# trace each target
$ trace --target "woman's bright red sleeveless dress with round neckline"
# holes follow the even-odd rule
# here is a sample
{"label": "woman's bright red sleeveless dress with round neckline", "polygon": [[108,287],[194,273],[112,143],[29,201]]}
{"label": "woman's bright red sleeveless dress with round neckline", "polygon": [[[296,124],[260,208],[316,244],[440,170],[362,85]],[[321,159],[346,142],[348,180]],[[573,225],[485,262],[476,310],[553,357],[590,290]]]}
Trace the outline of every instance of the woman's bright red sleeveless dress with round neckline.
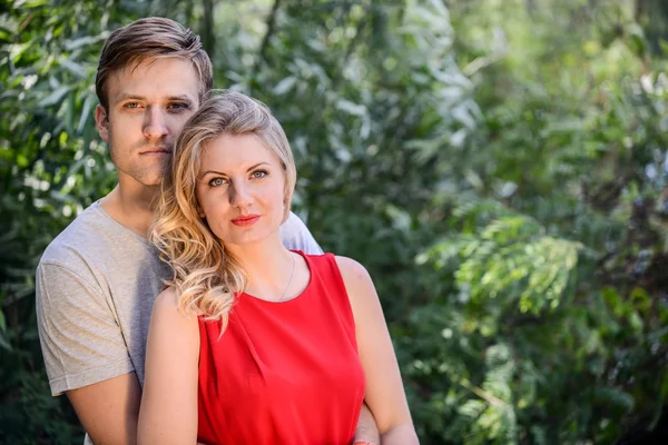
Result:
{"label": "woman's bright red sleeveless dress with round neckline", "polygon": [[242,293],[220,337],[199,318],[197,441],[207,445],[344,445],[353,441],[364,372],[332,254],[304,257],[311,281],[271,303]]}

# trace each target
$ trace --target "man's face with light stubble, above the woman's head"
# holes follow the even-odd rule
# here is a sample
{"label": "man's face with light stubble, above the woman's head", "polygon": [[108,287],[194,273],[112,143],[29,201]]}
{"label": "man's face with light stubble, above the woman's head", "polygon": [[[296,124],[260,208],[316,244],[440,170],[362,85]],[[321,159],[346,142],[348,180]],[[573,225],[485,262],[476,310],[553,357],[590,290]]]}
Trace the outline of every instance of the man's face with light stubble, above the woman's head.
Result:
{"label": "man's face with light stubble, above the woman's head", "polygon": [[176,138],[199,107],[199,79],[190,61],[149,59],[109,76],[108,110],[96,109],[118,180],[155,186],[171,161]]}

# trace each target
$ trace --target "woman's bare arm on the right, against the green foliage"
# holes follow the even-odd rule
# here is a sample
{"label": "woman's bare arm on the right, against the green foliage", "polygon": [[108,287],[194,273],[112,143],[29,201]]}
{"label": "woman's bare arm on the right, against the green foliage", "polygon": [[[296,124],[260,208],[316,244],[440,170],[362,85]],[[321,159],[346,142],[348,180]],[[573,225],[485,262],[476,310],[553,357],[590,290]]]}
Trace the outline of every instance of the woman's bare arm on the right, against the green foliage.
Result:
{"label": "woman's bare arm on the right, against the green foliage", "polygon": [[357,350],[366,377],[364,402],[383,445],[418,444],[387,324],[373,281],[358,263],[336,257],[353,308]]}

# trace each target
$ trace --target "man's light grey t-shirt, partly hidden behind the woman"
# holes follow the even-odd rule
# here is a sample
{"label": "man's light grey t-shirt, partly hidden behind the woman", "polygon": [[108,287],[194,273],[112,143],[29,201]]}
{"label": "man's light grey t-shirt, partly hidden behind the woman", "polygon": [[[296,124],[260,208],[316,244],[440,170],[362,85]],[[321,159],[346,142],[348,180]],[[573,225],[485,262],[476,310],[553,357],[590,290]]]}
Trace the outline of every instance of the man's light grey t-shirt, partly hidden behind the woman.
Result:
{"label": "man's light grey t-shirt, partly hidden behind the woman", "polygon": [[[281,227],[286,247],[321,254],[294,214]],[[51,393],[135,372],[144,385],[155,297],[169,267],[144,237],[95,202],[45,251],[37,267],[37,322]]]}

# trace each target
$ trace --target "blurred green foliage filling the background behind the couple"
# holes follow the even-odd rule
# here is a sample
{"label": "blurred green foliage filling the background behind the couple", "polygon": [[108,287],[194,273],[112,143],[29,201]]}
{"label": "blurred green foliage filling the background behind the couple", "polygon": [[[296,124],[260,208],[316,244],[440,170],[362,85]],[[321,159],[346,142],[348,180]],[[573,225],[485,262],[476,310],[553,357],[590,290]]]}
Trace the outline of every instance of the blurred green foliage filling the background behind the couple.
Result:
{"label": "blurred green foliage filling the background behind the couple", "polygon": [[109,31],[197,30],[266,102],[295,207],[374,276],[423,444],[639,437],[668,400],[668,6],[660,0],[10,0],[0,7],[0,443],[80,443],[33,270],[108,192]]}

